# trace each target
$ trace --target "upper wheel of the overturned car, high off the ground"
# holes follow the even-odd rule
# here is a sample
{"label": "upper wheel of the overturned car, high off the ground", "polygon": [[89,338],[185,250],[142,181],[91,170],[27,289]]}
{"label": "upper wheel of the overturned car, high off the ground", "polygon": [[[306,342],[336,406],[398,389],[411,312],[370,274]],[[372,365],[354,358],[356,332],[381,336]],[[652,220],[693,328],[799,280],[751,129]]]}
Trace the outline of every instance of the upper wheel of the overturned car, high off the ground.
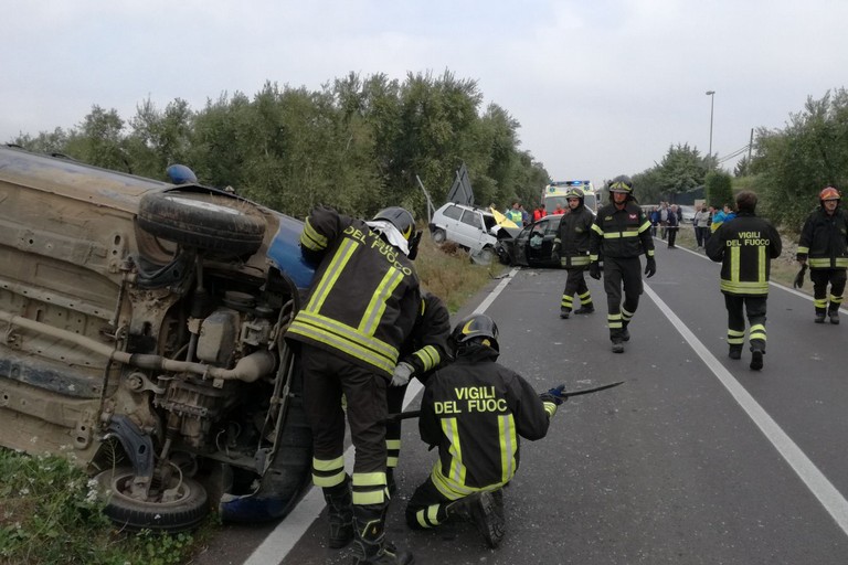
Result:
{"label": "upper wheel of the overturned car, high off the ground", "polygon": [[138,207],[138,225],[187,247],[251,255],[265,236],[265,220],[246,202],[208,193],[153,192]]}

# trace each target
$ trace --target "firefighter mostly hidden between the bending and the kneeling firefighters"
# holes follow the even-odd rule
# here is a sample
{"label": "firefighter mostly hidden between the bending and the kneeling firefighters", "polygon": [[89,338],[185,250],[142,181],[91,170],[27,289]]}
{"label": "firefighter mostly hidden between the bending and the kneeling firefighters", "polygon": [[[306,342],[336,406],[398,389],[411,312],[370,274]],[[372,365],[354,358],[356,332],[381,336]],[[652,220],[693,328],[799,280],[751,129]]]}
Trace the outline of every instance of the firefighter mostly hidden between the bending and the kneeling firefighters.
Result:
{"label": "firefighter mostly hidden between the bending and the kneeling firefighters", "polygon": [[[434,369],[449,358],[447,340],[451,337],[451,313],[436,295],[422,291],[421,308],[412,334],[401,347],[401,362],[394,367],[391,385],[386,391],[389,414],[400,414],[403,397],[411,377],[426,384]],[[401,455],[401,422],[390,420],[385,425],[385,479],[389,493],[396,490],[394,470]]]}

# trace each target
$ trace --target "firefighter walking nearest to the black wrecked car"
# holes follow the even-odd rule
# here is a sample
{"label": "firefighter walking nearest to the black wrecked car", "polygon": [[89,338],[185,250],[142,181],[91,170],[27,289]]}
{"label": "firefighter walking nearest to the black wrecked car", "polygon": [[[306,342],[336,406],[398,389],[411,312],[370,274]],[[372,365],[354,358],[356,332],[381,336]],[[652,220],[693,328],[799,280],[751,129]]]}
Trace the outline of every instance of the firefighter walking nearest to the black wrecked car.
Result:
{"label": "firefighter walking nearest to the black wrecked car", "polygon": [[595,216],[584,205],[584,195],[583,190],[576,188],[565,193],[571,212],[560,220],[560,230],[553,239],[553,253],[559,255],[560,264],[569,274],[560,300],[560,318],[563,319],[571,316],[574,296],[580,298],[580,308],[574,310],[575,315],[595,311],[592,294],[583,275],[589,267],[589,241]]}

